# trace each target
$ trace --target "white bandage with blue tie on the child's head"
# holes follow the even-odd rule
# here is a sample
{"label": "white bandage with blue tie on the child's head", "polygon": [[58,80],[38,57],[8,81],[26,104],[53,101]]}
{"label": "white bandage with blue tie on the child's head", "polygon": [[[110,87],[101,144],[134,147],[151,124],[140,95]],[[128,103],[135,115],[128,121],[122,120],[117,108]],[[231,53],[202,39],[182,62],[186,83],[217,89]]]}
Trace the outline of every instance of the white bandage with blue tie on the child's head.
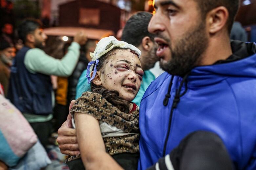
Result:
{"label": "white bandage with blue tie on the child's head", "polygon": [[[97,43],[94,53],[90,53],[90,56],[92,57],[92,61],[89,62],[88,66],[87,66],[87,74],[86,74],[86,77],[88,78],[88,83],[90,83],[96,75],[96,71],[97,71],[96,66],[99,62],[98,59],[101,56],[103,56],[104,54],[106,54],[107,52],[109,52],[110,50],[112,50],[114,47],[123,48],[123,49],[128,48],[128,49],[135,51],[135,53],[138,54],[138,56],[141,55],[140,50],[132,44],[128,44],[127,42],[123,42],[123,41],[118,41],[113,36],[102,38]],[[95,64],[95,66],[94,66],[94,64]],[[93,67],[94,67],[94,70],[93,70]],[[91,77],[90,75],[91,75],[92,71],[94,71],[94,73]]]}

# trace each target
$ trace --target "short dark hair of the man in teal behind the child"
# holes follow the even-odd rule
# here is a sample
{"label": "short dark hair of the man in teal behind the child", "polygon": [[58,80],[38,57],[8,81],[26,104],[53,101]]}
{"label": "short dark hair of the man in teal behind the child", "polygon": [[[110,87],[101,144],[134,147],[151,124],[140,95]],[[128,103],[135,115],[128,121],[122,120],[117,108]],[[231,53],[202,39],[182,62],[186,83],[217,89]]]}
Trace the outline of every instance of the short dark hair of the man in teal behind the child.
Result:
{"label": "short dark hair of the man in teal behind the child", "polygon": [[154,41],[155,35],[148,32],[148,23],[152,16],[151,13],[144,11],[131,16],[124,26],[121,40],[134,46],[138,46],[146,36]]}

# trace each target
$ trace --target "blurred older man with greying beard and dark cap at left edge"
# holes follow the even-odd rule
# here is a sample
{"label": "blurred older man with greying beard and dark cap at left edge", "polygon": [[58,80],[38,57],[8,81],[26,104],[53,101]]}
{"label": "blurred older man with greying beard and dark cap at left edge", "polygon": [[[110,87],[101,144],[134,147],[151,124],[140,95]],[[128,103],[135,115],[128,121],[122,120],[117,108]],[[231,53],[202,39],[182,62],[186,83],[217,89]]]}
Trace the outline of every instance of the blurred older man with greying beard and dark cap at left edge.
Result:
{"label": "blurred older man with greying beard and dark cap at left edge", "polygon": [[12,60],[15,56],[15,48],[12,43],[0,39],[0,82],[3,85],[5,96],[7,96]]}

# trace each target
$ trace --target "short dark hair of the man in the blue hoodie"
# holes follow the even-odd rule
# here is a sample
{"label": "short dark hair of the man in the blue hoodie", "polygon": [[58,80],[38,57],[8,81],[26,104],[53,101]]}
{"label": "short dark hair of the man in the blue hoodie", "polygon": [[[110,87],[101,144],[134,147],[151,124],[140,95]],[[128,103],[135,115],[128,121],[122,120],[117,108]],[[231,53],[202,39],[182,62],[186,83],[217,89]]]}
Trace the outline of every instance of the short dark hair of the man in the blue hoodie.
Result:
{"label": "short dark hair of the man in the blue hoodie", "polygon": [[224,6],[229,13],[229,16],[227,19],[227,29],[228,29],[228,32],[230,33],[235,16],[239,9],[240,0],[194,0],[194,1],[198,3],[198,8],[200,9],[203,17],[206,17],[206,14],[210,10],[220,6]]}

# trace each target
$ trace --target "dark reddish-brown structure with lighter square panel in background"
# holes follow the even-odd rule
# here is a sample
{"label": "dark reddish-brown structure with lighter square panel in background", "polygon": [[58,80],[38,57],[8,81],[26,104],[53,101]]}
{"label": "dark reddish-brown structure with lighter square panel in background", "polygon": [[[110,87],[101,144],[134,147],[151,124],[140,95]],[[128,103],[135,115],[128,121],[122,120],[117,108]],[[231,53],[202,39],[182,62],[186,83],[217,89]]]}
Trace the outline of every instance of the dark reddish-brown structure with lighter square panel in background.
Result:
{"label": "dark reddish-brown structure with lighter square panel in background", "polygon": [[59,6],[59,26],[97,29],[120,29],[123,11],[116,6],[96,0],[76,0]]}

